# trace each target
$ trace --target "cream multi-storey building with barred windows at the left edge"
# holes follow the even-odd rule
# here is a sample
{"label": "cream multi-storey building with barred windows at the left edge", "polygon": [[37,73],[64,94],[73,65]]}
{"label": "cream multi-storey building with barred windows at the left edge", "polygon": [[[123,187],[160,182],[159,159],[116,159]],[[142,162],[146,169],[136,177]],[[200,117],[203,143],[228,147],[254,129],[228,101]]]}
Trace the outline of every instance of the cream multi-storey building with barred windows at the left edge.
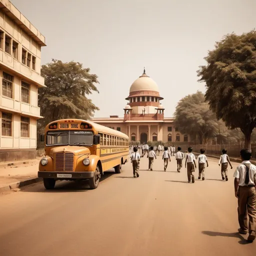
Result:
{"label": "cream multi-storey building with barred windows at the left edge", "polygon": [[41,118],[37,91],[44,36],[9,0],[0,0],[0,160],[32,158],[36,120]]}

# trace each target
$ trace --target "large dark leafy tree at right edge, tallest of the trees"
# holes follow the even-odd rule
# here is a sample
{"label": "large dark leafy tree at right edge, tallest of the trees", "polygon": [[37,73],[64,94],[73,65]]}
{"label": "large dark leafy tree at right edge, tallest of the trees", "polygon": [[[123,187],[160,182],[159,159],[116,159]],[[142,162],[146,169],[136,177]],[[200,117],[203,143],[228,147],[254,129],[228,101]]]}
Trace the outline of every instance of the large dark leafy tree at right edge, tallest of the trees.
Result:
{"label": "large dark leafy tree at right edge, tallest of the trees", "polygon": [[244,134],[250,147],[256,125],[256,31],[225,35],[204,58],[197,75],[206,86],[208,100],[218,119]]}

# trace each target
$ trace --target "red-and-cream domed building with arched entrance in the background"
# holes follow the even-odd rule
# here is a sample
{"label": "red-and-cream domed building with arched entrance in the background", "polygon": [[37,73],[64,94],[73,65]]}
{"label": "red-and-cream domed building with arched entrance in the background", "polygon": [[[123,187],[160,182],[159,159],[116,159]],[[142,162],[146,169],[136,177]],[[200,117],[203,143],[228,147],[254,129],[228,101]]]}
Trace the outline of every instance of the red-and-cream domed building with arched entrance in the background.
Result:
{"label": "red-and-cream domed building with arched entrance in the background", "polygon": [[172,117],[164,117],[163,99],[155,81],[150,78],[145,69],[130,86],[128,100],[124,107],[124,116],[110,115],[107,118],[92,118],[93,122],[120,130],[126,133],[130,140],[141,143],[162,140],[173,144],[188,142],[189,135],[181,134],[175,127]]}

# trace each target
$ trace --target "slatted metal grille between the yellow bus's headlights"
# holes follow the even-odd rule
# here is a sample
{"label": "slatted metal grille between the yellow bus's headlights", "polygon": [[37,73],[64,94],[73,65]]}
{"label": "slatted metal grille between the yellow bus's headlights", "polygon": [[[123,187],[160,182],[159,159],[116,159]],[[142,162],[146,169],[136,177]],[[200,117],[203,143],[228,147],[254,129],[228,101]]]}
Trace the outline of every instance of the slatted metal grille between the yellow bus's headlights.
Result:
{"label": "slatted metal grille between the yellow bus's headlights", "polygon": [[54,157],[54,169],[56,171],[73,171],[74,154],[56,153]]}

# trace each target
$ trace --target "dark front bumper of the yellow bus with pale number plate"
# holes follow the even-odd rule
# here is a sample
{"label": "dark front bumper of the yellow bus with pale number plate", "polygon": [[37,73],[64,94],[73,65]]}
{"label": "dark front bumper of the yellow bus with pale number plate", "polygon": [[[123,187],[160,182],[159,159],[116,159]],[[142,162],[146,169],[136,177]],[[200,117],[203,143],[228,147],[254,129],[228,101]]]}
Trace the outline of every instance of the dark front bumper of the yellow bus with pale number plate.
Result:
{"label": "dark front bumper of the yellow bus with pale number plate", "polygon": [[86,179],[94,177],[94,171],[38,171],[39,178]]}

